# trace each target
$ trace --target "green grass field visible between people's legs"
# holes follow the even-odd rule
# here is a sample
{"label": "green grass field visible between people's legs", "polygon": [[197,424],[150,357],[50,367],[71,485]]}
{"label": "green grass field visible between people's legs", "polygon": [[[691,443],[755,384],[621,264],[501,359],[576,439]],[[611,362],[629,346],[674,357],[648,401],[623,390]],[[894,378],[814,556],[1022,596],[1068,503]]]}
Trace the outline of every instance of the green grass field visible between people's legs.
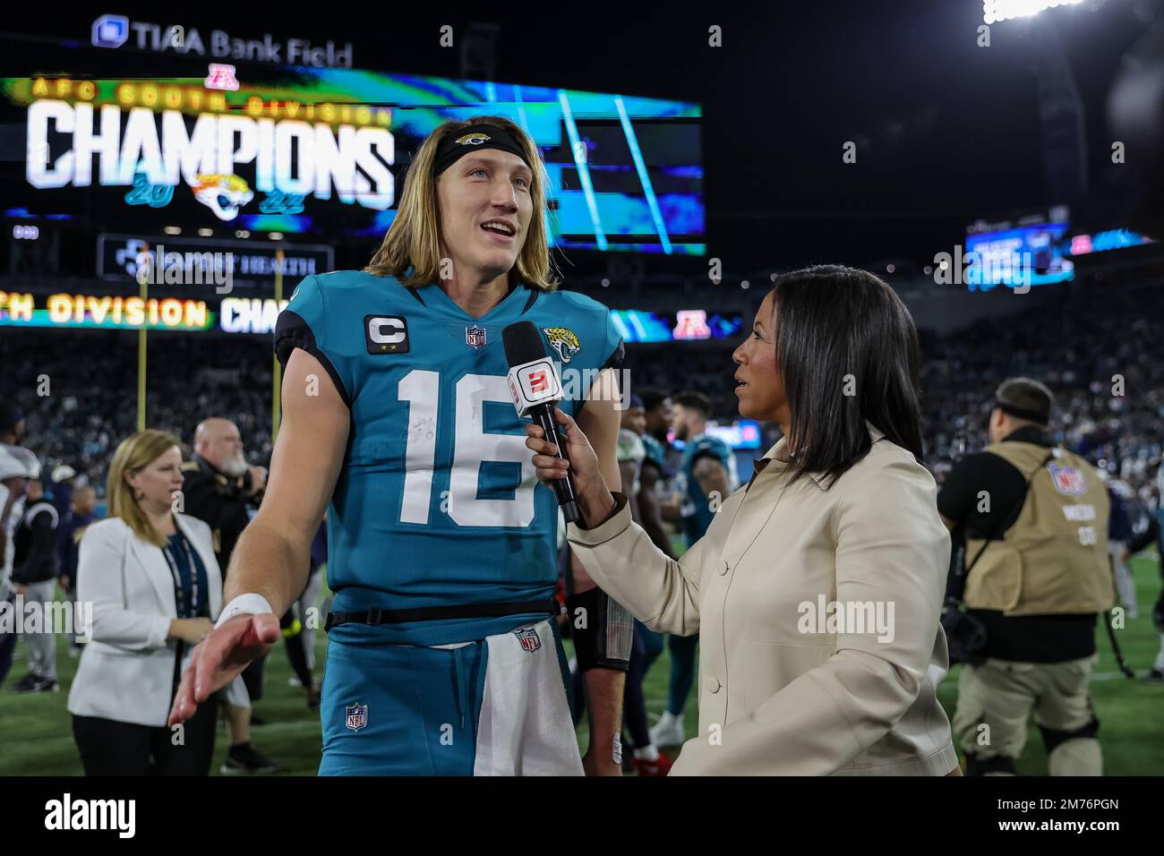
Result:
{"label": "green grass field visible between people's legs", "polygon": [[[1133,561],[1133,572],[1140,594],[1140,615],[1117,631],[1124,658],[1137,675],[1147,671],[1159,650],[1161,636],[1152,627],[1151,606],[1159,593],[1161,578],[1155,556],[1143,554]],[[1164,686],[1145,685],[1119,674],[1107,635],[1096,631],[1100,651],[1092,693],[1101,721],[1100,738],[1103,745],[1105,770],[1108,776],[1164,774]],[[68,642],[58,639],[57,670],[59,693],[16,695],[12,685],[27,672],[23,648],[17,644],[17,659],[0,688],[0,774],[2,776],[74,776],[80,774],[80,762],[73,743],[70,715],[65,709],[69,686],[78,660],[68,655]],[[326,658],[326,638],[317,634],[317,663]],[[667,701],[669,662],[666,649],[652,667],[646,681],[647,710],[653,722]],[[317,672],[318,672],[317,667]],[[319,765],[319,720],[310,712],[303,691],[288,686],[291,667],[282,648],[277,648],[267,667],[267,689],[255,706],[256,715],[268,724],[253,729],[254,744],[267,755],[282,761],[284,773],[308,776]],[[958,696],[958,670],[951,670],[939,687],[938,696],[952,716]],[[684,715],[688,736],[695,736],[698,724],[695,692],[688,700]],[[585,726],[579,729],[579,740],[585,748]],[[215,748],[214,774],[226,756],[226,733],[219,726]],[[1046,772],[1046,756],[1038,729],[1030,727],[1027,750],[1018,762],[1020,773],[1039,776]]]}

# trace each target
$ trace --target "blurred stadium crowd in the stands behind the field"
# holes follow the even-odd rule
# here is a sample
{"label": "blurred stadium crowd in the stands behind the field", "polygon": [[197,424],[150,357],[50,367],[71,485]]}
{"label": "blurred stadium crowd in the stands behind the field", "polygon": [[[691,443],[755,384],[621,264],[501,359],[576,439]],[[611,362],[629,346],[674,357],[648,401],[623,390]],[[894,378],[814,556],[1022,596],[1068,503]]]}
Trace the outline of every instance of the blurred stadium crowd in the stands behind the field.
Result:
{"label": "blurred stadium crowd in the stands behind the field", "polygon": [[[927,466],[941,479],[954,460],[986,446],[995,384],[1024,375],[1058,397],[1056,439],[1150,504],[1164,444],[1164,344],[1144,311],[1156,288],[1077,289],[1070,300],[1064,295],[952,333],[922,331]],[[734,345],[633,344],[625,362],[631,391],[700,391],[711,399],[712,420],[730,424],[737,418]],[[0,362],[7,367],[0,398],[23,410],[26,445],[50,471],[68,464],[85,476],[79,483],[104,496],[108,458],[136,426],[136,333],[21,331],[0,337]],[[265,337],[151,334],[147,365],[150,427],[189,445],[196,415],[218,413],[239,426],[250,464],[269,459],[272,360]]]}

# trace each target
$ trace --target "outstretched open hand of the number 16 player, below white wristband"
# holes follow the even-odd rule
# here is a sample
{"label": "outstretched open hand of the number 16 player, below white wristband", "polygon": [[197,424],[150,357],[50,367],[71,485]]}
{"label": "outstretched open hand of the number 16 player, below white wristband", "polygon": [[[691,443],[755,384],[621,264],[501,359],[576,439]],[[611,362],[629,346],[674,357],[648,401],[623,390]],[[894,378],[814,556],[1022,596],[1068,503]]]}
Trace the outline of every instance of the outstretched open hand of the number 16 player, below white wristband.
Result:
{"label": "outstretched open hand of the number 16 player, below white wristband", "polygon": [[236,615],[211,630],[182,672],[166,724],[176,726],[193,716],[198,705],[234,680],[251,660],[265,656],[278,638],[279,620],[270,614]]}

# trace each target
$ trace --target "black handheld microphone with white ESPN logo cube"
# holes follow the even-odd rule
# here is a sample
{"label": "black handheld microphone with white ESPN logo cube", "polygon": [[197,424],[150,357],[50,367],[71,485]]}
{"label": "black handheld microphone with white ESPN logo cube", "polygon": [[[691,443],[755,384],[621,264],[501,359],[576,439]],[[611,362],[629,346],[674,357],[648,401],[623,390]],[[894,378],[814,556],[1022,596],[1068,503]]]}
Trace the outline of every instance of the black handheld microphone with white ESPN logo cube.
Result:
{"label": "black handheld microphone with white ESPN logo cube", "polygon": [[[517,321],[502,330],[502,340],[505,360],[510,365],[506,380],[517,415],[532,417],[546,432],[546,439],[554,444],[556,457],[568,461],[569,454],[554,420],[554,404],[562,399],[562,384],[553,361],[546,356],[546,346],[538,328],[532,321]],[[569,471],[565,479],[554,480],[553,489],[566,522],[580,519],[582,514]]]}

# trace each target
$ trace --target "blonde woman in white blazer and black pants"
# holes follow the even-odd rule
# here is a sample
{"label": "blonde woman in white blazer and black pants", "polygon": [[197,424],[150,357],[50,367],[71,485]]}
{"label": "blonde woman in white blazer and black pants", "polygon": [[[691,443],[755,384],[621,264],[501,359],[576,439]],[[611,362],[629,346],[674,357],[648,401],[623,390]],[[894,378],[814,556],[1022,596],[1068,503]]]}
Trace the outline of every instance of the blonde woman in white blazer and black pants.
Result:
{"label": "blonde woman in white blazer and black pants", "polygon": [[[141,431],[109,466],[109,517],[80,542],[77,599],[93,604],[69,693],[73,736],[88,776],[205,776],[214,751],[215,700],[166,728],[180,662],[222,607],[210,526],[172,511],[182,489],[178,439]],[[228,691],[247,703],[241,686]]]}

